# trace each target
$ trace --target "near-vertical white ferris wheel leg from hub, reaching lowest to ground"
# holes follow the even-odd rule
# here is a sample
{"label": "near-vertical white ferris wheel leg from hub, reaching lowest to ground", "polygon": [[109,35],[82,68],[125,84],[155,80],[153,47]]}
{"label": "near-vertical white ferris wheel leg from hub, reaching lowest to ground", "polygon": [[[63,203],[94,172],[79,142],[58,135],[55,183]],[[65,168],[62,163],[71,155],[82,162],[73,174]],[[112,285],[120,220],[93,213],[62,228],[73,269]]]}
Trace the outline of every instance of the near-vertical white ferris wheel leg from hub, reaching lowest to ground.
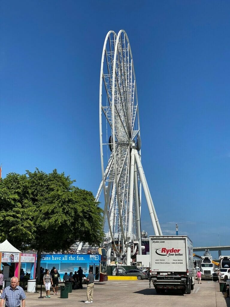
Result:
{"label": "near-vertical white ferris wheel leg from hub, reaching lowest to ground", "polygon": [[131,240],[132,238],[132,219],[133,219],[133,182],[134,182],[134,163],[135,152],[132,148],[131,151],[131,164],[130,164],[130,181],[129,181],[129,205],[128,205],[128,246],[127,246],[127,262],[126,264],[132,264],[131,258]]}

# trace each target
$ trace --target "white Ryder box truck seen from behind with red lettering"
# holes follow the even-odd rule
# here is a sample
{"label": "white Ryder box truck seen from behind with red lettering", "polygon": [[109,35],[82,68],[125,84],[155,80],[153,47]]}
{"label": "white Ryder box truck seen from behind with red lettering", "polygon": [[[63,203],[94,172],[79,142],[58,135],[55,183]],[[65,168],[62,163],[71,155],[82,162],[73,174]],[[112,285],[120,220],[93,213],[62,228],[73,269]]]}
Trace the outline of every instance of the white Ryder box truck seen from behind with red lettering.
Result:
{"label": "white Ryder box truck seen from behind with red lettering", "polygon": [[193,243],[186,235],[149,236],[150,275],[156,293],[181,290],[191,293],[194,289]]}

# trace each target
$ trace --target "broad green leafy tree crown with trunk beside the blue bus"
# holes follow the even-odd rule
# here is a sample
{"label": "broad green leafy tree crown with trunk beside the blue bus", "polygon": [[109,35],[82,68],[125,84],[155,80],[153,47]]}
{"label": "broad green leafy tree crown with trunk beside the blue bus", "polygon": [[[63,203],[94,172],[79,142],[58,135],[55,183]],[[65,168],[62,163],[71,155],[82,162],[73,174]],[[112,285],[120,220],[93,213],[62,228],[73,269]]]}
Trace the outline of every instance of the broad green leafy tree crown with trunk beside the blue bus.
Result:
{"label": "broad green leafy tree crown with trunk beside the blue bus", "polygon": [[73,183],[56,169],[12,173],[0,182],[1,235],[7,233],[18,248],[37,250],[37,268],[42,251],[67,250],[76,241],[102,242],[102,209],[92,192]]}

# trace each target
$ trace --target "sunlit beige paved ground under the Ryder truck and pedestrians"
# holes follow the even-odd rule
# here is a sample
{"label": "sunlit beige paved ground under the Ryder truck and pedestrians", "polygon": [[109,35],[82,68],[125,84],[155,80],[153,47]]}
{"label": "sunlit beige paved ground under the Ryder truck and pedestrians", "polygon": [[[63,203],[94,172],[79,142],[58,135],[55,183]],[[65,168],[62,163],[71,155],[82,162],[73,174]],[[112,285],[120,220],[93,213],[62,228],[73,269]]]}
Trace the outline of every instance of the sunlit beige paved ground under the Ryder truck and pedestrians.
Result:
{"label": "sunlit beige paved ground under the Ryder truck and pedestrians", "polygon": [[[60,291],[59,291],[60,294]],[[39,293],[27,293],[26,307],[77,307],[86,306],[86,286],[83,290],[73,290],[68,299],[61,299],[60,295],[51,298],[38,298]],[[43,291],[45,296],[45,292]],[[94,301],[90,306],[111,307],[230,307],[230,299],[224,298],[219,284],[212,281],[202,281],[195,284],[191,294],[165,293],[156,294],[154,287],[149,288],[148,280],[136,281],[108,281],[96,283],[94,286]]]}

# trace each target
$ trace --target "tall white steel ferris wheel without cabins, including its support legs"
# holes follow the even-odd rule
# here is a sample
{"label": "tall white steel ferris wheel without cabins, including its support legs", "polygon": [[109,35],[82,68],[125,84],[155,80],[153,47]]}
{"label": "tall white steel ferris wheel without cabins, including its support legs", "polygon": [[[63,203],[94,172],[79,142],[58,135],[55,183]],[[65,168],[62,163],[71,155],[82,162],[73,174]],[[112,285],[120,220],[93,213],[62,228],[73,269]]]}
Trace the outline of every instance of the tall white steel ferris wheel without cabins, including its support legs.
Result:
{"label": "tall white steel ferris wheel without cabins, including its support legs", "polygon": [[141,255],[141,189],[143,188],[155,235],[162,235],[141,164],[141,139],[132,52],[127,34],[109,31],[102,51],[100,74],[100,149],[104,192],[104,230],[108,258],[130,264],[138,247]]}

